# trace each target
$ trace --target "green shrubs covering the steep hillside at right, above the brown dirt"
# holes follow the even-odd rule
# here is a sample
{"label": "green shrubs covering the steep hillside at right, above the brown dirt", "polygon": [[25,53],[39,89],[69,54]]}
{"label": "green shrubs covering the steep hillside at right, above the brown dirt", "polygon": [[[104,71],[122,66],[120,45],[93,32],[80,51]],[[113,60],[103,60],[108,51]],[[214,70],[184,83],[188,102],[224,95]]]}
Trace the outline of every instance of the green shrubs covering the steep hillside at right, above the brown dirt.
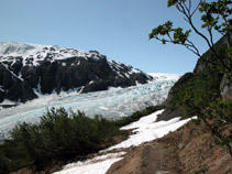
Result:
{"label": "green shrubs covering the steep hillside at right, above the brown dirt", "polygon": [[[212,67],[185,74],[172,88],[167,108],[181,108],[184,118],[198,116],[216,141],[227,146],[232,155],[232,100],[221,99],[222,77],[220,69]],[[200,120],[196,124],[200,124]]]}

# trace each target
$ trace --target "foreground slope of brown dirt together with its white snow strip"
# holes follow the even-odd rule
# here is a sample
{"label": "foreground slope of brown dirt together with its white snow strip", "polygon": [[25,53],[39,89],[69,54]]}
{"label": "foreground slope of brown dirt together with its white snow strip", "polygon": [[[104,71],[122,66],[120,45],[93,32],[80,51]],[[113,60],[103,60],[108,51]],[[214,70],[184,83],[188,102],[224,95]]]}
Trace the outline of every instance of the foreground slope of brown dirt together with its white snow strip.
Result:
{"label": "foreground slope of brown dirt together with its white snow strip", "polygon": [[[123,127],[122,130],[133,129],[128,140],[63,167],[62,163],[54,162],[45,168],[46,173],[231,174],[230,154],[216,143],[205,126],[180,118],[156,122],[162,112]],[[24,168],[14,174],[24,173],[33,171]]]}

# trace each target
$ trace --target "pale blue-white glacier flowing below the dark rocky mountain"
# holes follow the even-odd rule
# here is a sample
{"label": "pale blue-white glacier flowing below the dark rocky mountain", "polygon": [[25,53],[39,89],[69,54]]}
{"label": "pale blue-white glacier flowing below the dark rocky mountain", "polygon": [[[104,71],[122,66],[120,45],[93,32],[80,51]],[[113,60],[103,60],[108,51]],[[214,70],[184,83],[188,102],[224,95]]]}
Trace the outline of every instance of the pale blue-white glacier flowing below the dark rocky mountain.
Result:
{"label": "pale blue-white glacier flowing below the dark rocky mountain", "polygon": [[88,117],[101,115],[111,120],[130,116],[147,106],[161,105],[180,75],[152,74],[153,81],[129,88],[110,88],[104,91],[77,94],[75,90],[38,98],[11,108],[0,108],[0,140],[10,138],[19,122],[36,123],[47,109],[64,107],[68,111],[84,111]]}

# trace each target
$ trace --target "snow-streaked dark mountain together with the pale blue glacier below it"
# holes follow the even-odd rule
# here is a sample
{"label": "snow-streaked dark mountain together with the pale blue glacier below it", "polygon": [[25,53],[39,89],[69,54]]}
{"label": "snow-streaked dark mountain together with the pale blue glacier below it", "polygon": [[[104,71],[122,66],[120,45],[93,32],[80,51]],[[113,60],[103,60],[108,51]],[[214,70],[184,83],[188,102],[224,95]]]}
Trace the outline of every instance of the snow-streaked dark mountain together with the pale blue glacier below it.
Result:
{"label": "snow-streaked dark mountain together with the pale blue glacier below it", "polygon": [[178,78],[145,74],[97,51],[0,43],[0,140],[18,122],[40,121],[51,107],[126,117],[162,104]]}

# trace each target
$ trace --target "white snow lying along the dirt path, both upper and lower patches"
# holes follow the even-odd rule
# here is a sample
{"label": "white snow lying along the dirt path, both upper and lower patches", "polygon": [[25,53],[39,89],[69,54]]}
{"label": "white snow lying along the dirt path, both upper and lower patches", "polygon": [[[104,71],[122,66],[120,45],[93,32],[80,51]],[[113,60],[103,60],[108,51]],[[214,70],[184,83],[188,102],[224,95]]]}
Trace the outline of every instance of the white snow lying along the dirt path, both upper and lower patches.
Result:
{"label": "white snow lying along the dirt path, both upper and lower patches", "polygon": [[[152,115],[141,118],[136,122],[122,127],[122,130],[134,129],[133,132],[135,134],[130,135],[130,138],[123,141],[122,143],[113,145],[107,150],[100,151],[99,154],[114,149],[140,145],[143,142],[162,138],[168,132],[177,130],[179,127],[190,120],[186,119],[180,121],[180,118],[174,118],[168,121],[154,122],[157,116],[161,115],[163,111],[164,110],[156,111]],[[108,153],[106,155],[99,155],[95,159],[90,159],[87,161],[70,163],[65,165],[60,172],[56,172],[54,174],[104,174],[113,163],[119,160],[122,160],[124,154],[125,152]]]}

